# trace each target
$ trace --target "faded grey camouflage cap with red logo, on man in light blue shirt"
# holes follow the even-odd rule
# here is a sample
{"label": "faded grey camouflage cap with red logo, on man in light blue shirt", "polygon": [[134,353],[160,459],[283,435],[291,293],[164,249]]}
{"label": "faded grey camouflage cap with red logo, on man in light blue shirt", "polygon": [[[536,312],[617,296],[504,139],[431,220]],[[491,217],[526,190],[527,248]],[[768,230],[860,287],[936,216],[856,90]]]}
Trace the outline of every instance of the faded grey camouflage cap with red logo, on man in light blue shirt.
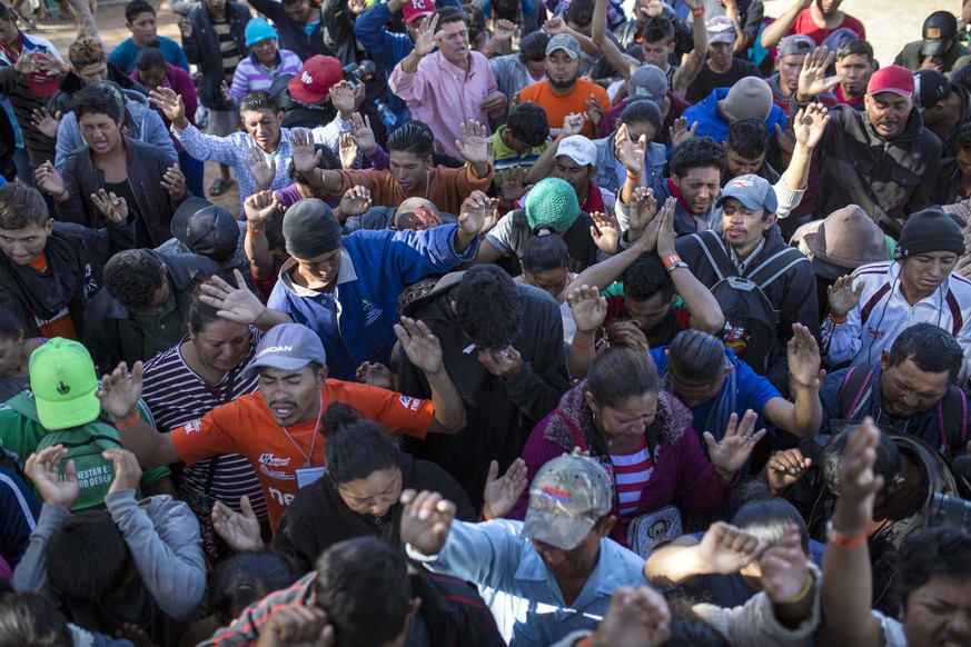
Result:
{"label": "faded grey camouflage cap with red logo, on man in light blue shirt", "polygon": [[586,456],[566,455],[544,465],[529,487],[523,537],[573,550],[613,506],[611,477]]}

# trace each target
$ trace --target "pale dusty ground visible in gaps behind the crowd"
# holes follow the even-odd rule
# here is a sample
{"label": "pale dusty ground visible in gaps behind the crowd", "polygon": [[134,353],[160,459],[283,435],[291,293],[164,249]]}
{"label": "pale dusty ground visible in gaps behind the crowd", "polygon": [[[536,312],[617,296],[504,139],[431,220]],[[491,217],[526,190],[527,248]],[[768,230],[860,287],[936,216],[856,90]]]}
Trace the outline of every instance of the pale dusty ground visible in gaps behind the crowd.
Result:
{"label": "pale dusty ground visible in gaps behind the crowd", "polygon": [[[765,0],[765,14],[777,16],[790,6],[791,0]],[[158,9],[159,33],[179,40],[177,17],[169,10],[168,2],[152,2]],[[881,63],[888,64],[904,46],[921,37],[921,24],[924,18],[933,11],[949,10],[960,12],[960,3],[955,0],[912,0],[910,2],[890,3],[883,0],[846,0],[842,7],[845,11],[863,21],[866,34],[876,51]],[[128,38],[125,27],[125,4],[121,2],[106,4],[98,11],[98,28],[101,38],[109,44]],[[69,16],[60,20],[39,22],[36,33],[49,39],[63,53],[75,39],[76,29]],[[209,187],[218,171],[215,165],[206,165],[206,182]],[[217,198],[224,207],[236,213],[239,209],[239,197],[234,186],[231,191]]]}

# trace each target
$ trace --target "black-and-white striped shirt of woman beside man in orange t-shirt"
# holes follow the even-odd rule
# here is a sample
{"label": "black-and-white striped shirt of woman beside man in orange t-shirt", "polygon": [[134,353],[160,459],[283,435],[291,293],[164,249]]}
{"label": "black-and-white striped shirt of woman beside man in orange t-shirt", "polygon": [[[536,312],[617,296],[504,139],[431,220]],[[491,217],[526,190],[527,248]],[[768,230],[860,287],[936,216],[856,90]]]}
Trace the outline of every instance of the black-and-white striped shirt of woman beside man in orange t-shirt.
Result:
{"label": "black-and-white striped shirt of woman beside man in orange t-shirt", "polygon": [[[252,361],[261,338],[262,332],[250,326],[249,352],[235,371],[230,397],[232,400],[257,391],[259,374],[254,372],[246,379],[241,379],[239,374]],[[198,420],[225,402],[230,374],[222,376],[217,384],[209,384],[199,377],[182,358],[181,346],[188,339],[187,335],[179,344],[158,354],[145,365],[145,390],[141,397],[155,416],[159,429],[171,429]],[[191,467],[185,466],[182,478],[186,487],[199,494],[205,492],[212,460],[214,458],[208,458]],[[219,457],[209,494],[234,510],[239,510],[239,497],[246,495],[257,518],[261,522],[267,520],[266,499],[256,472],[249,461],[238,454],[224,454]]]}

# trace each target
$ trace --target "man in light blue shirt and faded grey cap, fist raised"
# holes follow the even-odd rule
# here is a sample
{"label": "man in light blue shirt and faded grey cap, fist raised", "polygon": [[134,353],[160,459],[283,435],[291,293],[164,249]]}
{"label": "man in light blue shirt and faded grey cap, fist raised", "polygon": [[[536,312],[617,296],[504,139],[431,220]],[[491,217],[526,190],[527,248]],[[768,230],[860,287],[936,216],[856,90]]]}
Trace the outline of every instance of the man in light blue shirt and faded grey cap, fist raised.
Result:
{"label": "man in light blue shirt and faded grey cap, fist raised", "polygon": [[592,629],[617,587],[646,584],[644,560],[607,537],[616,524],[611,478],[584,456],[561,456],[536,474],[525,521],[455,520],[438,492],[407,490],[402,541],[433,573],[476,585],[506,641],[552,645]]}

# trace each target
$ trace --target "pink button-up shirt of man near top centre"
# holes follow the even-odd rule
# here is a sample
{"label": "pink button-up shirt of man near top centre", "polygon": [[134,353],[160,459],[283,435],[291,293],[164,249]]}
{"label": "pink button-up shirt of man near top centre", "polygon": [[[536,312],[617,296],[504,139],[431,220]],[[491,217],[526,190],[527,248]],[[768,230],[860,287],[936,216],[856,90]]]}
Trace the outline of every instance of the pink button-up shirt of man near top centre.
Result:
{"label": "pink button-up shirt of man near top centre", "polygon": [[482,102],[498,89],[488,59],[477,51],[469,52],[468,72],[448,62],[440,51],[423,58],[413,74],[402,70],[399,62],[388,87],[408,104],[414,119],[432,128],[435,149],[458,159],[458,125],[475,119],[488,127]]}

